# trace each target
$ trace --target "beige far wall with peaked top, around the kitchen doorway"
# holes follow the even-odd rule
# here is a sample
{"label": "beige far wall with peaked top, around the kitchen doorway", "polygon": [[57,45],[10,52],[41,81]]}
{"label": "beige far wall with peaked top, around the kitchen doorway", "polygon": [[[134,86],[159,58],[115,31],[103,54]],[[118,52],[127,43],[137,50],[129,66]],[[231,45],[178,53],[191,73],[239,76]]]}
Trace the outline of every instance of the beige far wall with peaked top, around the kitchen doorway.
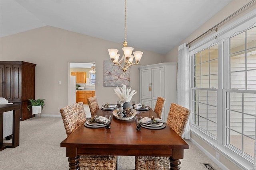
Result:
{"label": "beige far wall with peaked top, around the kitchen doorway", "polygon": [[[116,36],[116,35],[114,35]],[[92,63],[97,66],[96,96],[99,105],[116,103],[114,87],[103,87],[103,61],[109,60],[107,49],[122,51],[122,43],[45,26],[0,38],[0,61],[26,61],[36,65],[36,98],[45,98],[42,114],[59,115],[68,104],[69,63]],[[165,56],[142,49],[142,65],[165,62]],[[61,81],[61,84],[58,82]],[[130,69],[130,86],[139,90],[138,66]],[[139,92],[133,100],[139,101]]]}

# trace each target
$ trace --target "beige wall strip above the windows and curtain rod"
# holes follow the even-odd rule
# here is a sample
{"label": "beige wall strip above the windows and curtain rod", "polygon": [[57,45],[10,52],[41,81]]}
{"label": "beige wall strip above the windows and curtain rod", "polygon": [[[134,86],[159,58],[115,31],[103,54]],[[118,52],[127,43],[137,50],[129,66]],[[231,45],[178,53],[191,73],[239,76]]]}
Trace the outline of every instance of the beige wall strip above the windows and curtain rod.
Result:
{"label": "beige wall strip above the windows and curtain rod", "polygon": [[[190,36],[186,37],[183,41],[178,43],[178,45],[176,47],[171,49],[171,51],[166,55],[166,62],[177,62],[178,61],[178,47],[182,43],[189,43],[189,42],[193,41],[194,39],[196,39],[196,37],[202,35],[208,29],[212,28],[214,25],[220,23],[220,21],[224,20],[225,18],[227,18],[228,16],[230,16],[231,14],[236,12],[238,9],[242,8],[242,6],[246,5],[248,2],[250,2],[250,0],[232,0],[227,6],[225,6],[222,10],[220,10],[220,12],[218,12],[216,15],[214,15],[210,20],[206,21],[202,26],[200,26],[196,31],[194,31]],[[256,2],[254,2],[249,8],[246,8],[239,15],[233,17],[232,20],[230,20],[230,21],[236,20],[240,16],[243,16],[244,14],[250,12],[251,10],[253,10],[255,8],[256,8]],[[221,26],[218,27],[218,29],[227,25],[228,23],[230,23],[230,21],[227,22],[226,24],[222,24]],[[189,29],[189,25],[188,25],[188,29]],[[212,32],[215,32],[215,31],[212,31]],[[207,37],[209,35],[210,35],[210,33],[204,37]],[[194,43],[200,41],[204,37],[198,39]],[[192,46],[193,46],[193,44],[190,45],[190,47],[192,47]]]}

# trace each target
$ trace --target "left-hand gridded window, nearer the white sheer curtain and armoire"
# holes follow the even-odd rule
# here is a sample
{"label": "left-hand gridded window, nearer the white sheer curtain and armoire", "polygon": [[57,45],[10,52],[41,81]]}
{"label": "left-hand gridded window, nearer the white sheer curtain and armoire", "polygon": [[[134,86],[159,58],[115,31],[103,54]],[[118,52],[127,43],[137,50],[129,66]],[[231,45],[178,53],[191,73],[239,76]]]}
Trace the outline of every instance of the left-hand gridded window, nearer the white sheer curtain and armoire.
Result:
{"label": "left-hand gridded window, nearer the white sheer curtain and armoire", "polygon": [[192,124],[216,139],[218,44],[194,55]]}

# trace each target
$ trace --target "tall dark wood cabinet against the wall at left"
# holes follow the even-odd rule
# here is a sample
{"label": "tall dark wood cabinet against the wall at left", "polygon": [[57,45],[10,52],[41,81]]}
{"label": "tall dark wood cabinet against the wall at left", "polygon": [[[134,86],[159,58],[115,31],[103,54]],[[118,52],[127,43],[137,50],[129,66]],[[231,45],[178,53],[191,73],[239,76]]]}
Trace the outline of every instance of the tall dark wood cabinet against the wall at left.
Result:
{"label": "tall dark wood cabinet against the wall at left", "polygon": [[35,66],[24,61],[0,61],[0,97],[20,104],[20,121],[31,118],[28,99],[35,98]]}

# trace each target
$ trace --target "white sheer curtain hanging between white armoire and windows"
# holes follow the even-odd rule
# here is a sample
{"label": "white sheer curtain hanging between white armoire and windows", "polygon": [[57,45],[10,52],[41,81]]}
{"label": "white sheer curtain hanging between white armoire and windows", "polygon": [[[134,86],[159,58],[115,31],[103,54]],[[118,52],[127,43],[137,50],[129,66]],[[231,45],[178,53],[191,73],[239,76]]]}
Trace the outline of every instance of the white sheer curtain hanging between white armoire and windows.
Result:
{"label": "white sheer curtain hanging between white armoire and windows", "polygon": [[[189,54],[186,43],[179,46],[178,49],[178,70],[177,70],[177,104],[189,108],[189,80],[190,66]],[[184,132],[185,139],[190,139],[189,122]]]}

